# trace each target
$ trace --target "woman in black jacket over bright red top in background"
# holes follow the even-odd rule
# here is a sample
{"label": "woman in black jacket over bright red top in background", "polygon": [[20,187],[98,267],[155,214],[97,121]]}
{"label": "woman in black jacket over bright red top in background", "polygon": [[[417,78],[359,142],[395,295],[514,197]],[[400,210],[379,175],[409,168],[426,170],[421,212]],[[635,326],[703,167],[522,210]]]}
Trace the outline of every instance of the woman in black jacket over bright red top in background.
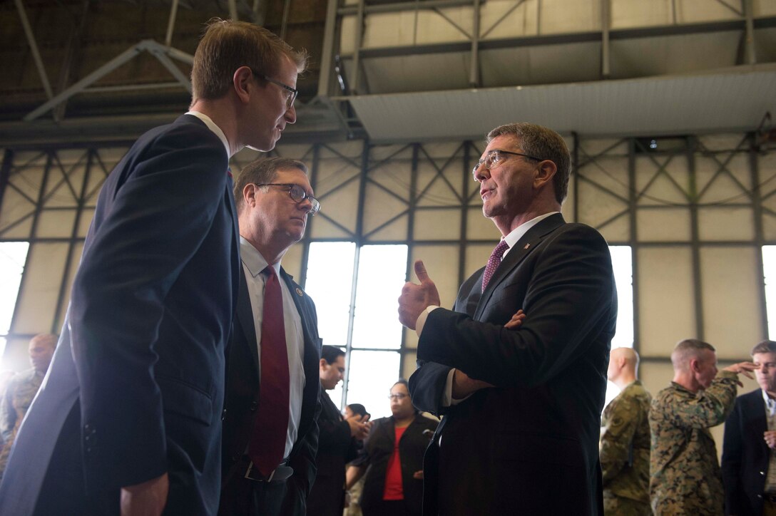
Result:
{"label": "woman in black jacket over bright red top in background", "polygon": [[389,399],[392,415],[374,421],[348,469],[348,489],[366,473],[360,500],[364,516],[421,514],[423,453],[438,421],[418,414],[405,379],[393,384]]}

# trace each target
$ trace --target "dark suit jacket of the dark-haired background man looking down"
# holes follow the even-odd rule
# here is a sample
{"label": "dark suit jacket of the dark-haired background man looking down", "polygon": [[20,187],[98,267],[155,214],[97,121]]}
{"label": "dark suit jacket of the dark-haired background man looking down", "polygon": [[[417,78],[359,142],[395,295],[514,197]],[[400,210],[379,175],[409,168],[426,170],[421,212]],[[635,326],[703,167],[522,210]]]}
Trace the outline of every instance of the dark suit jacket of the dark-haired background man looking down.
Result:
{"label": "dark suit jacket of the dark-haired background man looking down", "polygon": [[350,435],[348,421],[325,390],[320,390],[317,475],[307,497],[307,513],[314,516],[342,516],[345,509],[345,464],[355,459],[361,442]]}

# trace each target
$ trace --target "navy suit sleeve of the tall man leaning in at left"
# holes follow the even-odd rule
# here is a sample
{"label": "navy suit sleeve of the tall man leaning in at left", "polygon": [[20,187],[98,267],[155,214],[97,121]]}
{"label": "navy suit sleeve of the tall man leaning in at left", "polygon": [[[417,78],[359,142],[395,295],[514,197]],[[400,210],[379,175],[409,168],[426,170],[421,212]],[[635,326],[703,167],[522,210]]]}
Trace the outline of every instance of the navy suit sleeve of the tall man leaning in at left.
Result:
{"label": "navy suit sleeve of the tall man leaning in at left", "polygon": [[95,475],[116,486],[168,469],[155,350],[185,353],[185,342],[158,341],[158,328],[165,303],[196,303],[166,297],[227,189],[226,151],[204,126],[171,126],[124,159],[129,172],[108,192],[111,207],[91,234],[70,313],[86,451]]}

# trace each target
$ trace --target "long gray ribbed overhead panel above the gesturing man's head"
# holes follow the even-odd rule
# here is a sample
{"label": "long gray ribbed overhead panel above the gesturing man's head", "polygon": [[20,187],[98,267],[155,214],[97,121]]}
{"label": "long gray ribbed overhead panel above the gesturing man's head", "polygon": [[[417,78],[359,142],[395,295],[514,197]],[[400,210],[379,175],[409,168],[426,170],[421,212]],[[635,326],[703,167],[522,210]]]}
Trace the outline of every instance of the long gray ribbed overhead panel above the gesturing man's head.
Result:
{"label": "long gray ribbed overhead panel above the gesturing man's head", "polygon": [[365,95],[350,102],[376,141],[480,139],[494,126],[515,121],[596,136],[753,130],[765,112],[776,113],[776,67],[542,87]]}

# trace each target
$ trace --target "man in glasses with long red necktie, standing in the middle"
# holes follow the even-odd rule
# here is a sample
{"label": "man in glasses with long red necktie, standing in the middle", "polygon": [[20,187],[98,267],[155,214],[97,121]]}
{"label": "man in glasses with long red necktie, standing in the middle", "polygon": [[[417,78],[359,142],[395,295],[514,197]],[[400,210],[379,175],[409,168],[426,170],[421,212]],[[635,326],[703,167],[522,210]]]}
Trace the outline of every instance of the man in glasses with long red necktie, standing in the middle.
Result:
{"label": "man in glasses with long red necktie, standing in the middle", "polygon": [[[242,274],[227,363],[219,514],[305,514],[318,446],[313,300],[280,266],[320,204],[301,161],[263,158],[234,186]],[[274,311],[273,311],[274,310]]]}

